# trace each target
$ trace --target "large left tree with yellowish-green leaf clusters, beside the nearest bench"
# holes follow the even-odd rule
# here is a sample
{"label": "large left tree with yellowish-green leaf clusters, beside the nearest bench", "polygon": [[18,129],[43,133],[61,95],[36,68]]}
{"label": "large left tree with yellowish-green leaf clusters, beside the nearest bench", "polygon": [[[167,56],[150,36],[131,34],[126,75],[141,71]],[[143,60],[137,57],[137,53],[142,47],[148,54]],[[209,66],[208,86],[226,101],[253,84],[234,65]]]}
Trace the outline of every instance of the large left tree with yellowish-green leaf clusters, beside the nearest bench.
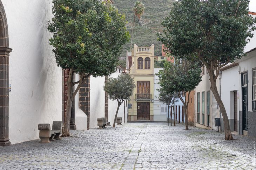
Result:
{"label": "large left tree with yellowish-green leaf clusters, beside the nearest bench", "polygon": [[[115,72],[122,45],[128,42],[125,17],[106,2],[98,0],[53,0],[53,19],[48,30],[53,34],[56,63],[69,69],[68,101],[62,136],[69,136],[72,101],[81,84],[90,76]],[[80,75],[72,82],[74,73]],[[78,84],[72,94],[72,87]]]}

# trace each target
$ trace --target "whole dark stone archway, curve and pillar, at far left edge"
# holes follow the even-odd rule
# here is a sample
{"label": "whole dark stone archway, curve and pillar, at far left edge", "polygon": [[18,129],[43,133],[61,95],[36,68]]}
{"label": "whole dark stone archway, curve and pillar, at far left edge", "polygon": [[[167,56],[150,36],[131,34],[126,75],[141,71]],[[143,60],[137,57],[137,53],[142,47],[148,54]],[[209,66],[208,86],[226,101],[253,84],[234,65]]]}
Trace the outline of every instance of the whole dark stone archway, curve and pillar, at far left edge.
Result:
{"label": "whole dark stone archway, curve and pillar, at far left edge", "polygon": [[9,146],[9,36],[5,9],[0,0],[0,146]]}

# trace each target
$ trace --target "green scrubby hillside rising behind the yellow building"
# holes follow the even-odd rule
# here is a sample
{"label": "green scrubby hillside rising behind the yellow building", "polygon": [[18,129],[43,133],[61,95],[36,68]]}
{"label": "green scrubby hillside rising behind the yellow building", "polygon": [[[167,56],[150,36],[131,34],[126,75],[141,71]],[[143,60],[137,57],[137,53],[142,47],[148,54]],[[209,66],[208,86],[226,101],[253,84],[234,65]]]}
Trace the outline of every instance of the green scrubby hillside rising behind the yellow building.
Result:
{"label": "green scrubby hillside rising behind the yellow building", "polygon": [[[134,13],[132,7],[136,0],[113,0],[114,6],[120,13],[126,15],[128,21],[128,30],[132,34]],[[155,44],[155,56],[162,55],[162,43],[157,41],[156,33],[162,31],[162,21],[169,15],[174,0],[140,0],[145,5],[145,13],[142,15],[141,22],[135,19],[135,28],[133,35],[133,44],[138,46],[150,46]],[[130,50],[130,42],[124,45],[121,59],[126,57],[126,50]]]}

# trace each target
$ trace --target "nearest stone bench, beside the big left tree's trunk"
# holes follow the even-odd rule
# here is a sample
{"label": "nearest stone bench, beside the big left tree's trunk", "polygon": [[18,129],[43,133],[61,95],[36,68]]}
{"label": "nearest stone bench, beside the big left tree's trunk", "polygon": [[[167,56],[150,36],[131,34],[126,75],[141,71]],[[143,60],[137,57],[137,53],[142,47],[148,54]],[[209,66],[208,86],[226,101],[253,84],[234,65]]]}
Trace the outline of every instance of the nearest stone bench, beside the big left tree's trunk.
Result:
{"label": "nearest stone bench, beside the big left tree's trunk", "polygon": [[49,123],[38,124],[39,137],[41,139],[40,143],[50,143],[50,141],[54,141],[54,139],[60,140],[60,134],[62,133],[61,128],[61,121],[54,121],[52,130],[50,130]]}

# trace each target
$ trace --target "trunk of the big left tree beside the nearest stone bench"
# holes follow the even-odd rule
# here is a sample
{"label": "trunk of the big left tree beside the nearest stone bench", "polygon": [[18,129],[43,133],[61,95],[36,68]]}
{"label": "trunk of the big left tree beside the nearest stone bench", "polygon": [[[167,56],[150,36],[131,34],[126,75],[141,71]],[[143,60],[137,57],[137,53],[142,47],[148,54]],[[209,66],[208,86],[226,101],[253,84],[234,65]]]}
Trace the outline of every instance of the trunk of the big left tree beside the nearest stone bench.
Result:
{"label": "trunk of the big left tree beside the nearest stone bench", "polygon": [[72,108],[72,95],[71,95],[71,89],[72,89],[72,78],[73,78],[73,69],[71,68],[69,70],[69,75],[68,75],[68,101],[67,101],[67,106],[66,106],[66,113],[65,113],[65,121],[64,121],[64,129],[62,132],[62,137],[67,137],[69,136],[69,125],[70,125],[70,118],[71,118],[71,108]]}

